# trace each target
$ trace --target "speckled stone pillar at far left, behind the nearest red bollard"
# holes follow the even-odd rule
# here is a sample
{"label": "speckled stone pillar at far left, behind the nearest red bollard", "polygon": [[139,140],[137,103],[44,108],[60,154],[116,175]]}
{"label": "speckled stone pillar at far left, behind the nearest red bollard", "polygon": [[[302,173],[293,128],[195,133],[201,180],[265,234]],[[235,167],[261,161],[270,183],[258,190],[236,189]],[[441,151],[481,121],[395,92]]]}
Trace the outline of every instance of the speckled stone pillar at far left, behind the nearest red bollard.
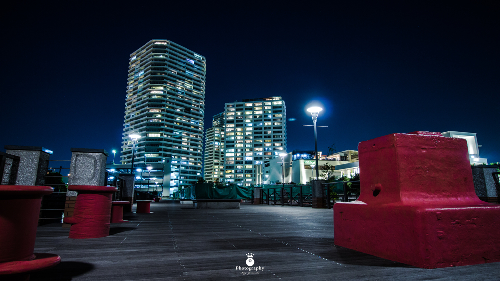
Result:
{"label": "speckled stone pillar at far left, behind the nearest red bollard", "polygon": [[15,185],[44,185],[51,150],[41,146],[5,145],[6,153],[19,156]]}

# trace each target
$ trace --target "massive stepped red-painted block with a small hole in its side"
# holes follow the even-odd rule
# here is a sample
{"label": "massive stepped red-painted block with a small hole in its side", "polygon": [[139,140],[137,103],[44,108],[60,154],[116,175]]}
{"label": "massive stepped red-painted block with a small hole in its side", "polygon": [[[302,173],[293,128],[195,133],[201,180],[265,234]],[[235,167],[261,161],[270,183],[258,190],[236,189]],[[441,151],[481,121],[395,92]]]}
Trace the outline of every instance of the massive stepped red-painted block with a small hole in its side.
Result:
{"label": "massive stepped red-painted block with a small hole in its side", "polygon": [[500,261],[500,205],[476,196],[465,139],[394,133],[358,149],[361,194],[334,205],[336,245],[421,268]]}

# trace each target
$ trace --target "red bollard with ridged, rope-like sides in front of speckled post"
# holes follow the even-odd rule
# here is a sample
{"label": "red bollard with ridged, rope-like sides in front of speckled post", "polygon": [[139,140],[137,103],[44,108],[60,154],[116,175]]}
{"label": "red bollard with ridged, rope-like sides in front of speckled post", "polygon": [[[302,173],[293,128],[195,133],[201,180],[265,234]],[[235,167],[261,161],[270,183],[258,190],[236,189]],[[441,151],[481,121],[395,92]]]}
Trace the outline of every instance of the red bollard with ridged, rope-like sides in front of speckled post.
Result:
{"label": "red bollard with ridged, rope-like sides in front of speckled post", "polygon": [[97,238],[109,235],[111,196],[117,188],[112,186],[69,185],[77,191],[73,216],[64,217],[72,224],[69,238]]}

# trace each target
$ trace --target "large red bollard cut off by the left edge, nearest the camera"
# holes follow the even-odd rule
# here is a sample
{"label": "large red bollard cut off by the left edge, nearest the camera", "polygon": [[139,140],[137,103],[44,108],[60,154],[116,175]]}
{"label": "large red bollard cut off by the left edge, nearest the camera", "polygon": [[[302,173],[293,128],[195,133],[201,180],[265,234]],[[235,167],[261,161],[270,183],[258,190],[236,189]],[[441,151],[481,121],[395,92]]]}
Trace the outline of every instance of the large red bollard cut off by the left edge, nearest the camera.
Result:
{"label": "large red bollard cut off by the left edge, nearest the camera", "polygon": [[41,197],[52,191],[48,186],[0,185],[0,279],[29,280],[29,272],[60,262],[57,254],[33,253]]}

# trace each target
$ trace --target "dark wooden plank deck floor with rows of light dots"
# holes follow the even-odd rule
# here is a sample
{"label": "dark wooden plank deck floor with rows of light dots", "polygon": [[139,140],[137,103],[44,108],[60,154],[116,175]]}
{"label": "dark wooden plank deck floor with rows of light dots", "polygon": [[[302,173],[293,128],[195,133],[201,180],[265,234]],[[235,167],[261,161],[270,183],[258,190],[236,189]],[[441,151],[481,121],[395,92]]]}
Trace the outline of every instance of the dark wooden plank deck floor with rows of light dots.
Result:
{"label": "dark wooden plank deck floor with rows of light dots", "polygon": [[[31,280],[500,279],[500,262],[420,269],[337,247],[331,209],[241,204],[206,210],[153,202],[151,211],[112,224],[102,238],[70,239],[69,229],[56,223],[38,227],[35,252],[57,253],[61,263]],[[246,267],[247,252],[263,270],[236,270]]]}

